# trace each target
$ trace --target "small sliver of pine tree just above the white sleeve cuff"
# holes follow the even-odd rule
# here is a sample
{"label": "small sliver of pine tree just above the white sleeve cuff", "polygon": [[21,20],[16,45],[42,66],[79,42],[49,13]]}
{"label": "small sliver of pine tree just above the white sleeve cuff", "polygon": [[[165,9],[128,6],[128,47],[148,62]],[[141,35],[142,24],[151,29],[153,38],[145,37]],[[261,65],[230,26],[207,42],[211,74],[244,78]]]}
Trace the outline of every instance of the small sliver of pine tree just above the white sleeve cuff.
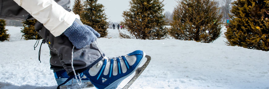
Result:
{"label": "small sliver of pine tree just above the white sleeve cuff", "polygon": [[73,6],[72,11],[73,11],[75,14],[78,14],[78,15],[80,16],[82,10],[83,10],[83,5],[82,5],[82,3],[81,3],[81,0],[75,0],[75,1],[74,1],[74,6]]}

